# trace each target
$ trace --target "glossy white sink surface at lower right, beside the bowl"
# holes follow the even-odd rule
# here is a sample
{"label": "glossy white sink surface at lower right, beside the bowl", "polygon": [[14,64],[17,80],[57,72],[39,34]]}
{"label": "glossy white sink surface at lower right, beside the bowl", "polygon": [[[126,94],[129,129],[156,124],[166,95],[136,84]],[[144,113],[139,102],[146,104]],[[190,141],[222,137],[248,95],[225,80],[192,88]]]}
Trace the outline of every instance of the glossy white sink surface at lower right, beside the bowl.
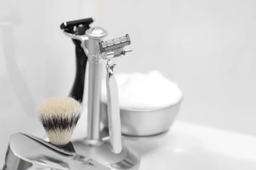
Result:
{"label": "glossy white sink surface at lower right, beside the bowl", "polygon": [[175,122],[160,138],[125,140],[140,170],[255,170],[256,137]]}

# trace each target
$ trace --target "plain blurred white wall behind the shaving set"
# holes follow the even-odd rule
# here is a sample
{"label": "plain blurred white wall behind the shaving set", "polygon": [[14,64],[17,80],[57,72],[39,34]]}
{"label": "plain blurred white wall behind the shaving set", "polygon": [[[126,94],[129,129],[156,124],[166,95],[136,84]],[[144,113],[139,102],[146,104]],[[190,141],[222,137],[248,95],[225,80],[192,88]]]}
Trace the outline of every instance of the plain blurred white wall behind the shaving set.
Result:
{"label": "plain blurred white wall behind the shaving set", "polygon": [[116,71],[180,85],[179,120],[256,135],[255,0],[0,0],[0,156],[14,132],[44,134],[43,99],[69,94],[74,45],[59,25],[85,17],[130,34],[134,53]]}

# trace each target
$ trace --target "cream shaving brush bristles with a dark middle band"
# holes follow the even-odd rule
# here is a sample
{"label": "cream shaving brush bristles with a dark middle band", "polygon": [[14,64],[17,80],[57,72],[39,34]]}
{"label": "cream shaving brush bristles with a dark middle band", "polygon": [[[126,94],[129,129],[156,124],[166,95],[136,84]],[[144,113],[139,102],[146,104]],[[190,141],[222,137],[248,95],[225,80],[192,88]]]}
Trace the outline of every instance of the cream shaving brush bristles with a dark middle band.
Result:
{"label": "cream shaving brush bristles with a dark middle band", "polygon": [[82,111],[81,103],[71,97],[52,97],[41,103],[38,118],[52,144],[70,142]]}

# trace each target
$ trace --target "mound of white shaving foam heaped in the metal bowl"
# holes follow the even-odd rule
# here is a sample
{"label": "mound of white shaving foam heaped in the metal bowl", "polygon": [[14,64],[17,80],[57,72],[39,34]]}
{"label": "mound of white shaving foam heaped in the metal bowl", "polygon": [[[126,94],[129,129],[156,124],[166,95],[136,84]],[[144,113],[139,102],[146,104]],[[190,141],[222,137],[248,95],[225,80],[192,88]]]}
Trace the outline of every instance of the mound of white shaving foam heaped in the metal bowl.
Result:
{"label": "mound of white shaving foam heaped in the metal bowl", "polygon": [[[126,109],[156,109],[175,105],[183,97],[175,82],[159,71],[115,74],[119,90],[119,107]],[[102,101],[107,103],[105,79],[102,80]]]}

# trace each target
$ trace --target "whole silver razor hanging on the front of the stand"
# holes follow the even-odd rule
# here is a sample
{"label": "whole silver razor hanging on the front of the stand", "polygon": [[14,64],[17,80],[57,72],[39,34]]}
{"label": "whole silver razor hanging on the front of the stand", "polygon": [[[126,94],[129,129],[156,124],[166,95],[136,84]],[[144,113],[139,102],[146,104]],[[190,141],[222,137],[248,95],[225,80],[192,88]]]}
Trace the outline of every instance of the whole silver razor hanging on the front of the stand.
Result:
{"label": "whole silver razor hanging on the front of the stand", "polygon": [[107,97],[108,97],[108,128],[113,153],[122,151],[121,120],[119,109],[118,86],[113,74],[113,68],[120,61],[122,56],[128,56],[132,50],[124,50],[126,45],[130,45],[128,34],[124,36],[99,41],[100,56],[107,59]]}

